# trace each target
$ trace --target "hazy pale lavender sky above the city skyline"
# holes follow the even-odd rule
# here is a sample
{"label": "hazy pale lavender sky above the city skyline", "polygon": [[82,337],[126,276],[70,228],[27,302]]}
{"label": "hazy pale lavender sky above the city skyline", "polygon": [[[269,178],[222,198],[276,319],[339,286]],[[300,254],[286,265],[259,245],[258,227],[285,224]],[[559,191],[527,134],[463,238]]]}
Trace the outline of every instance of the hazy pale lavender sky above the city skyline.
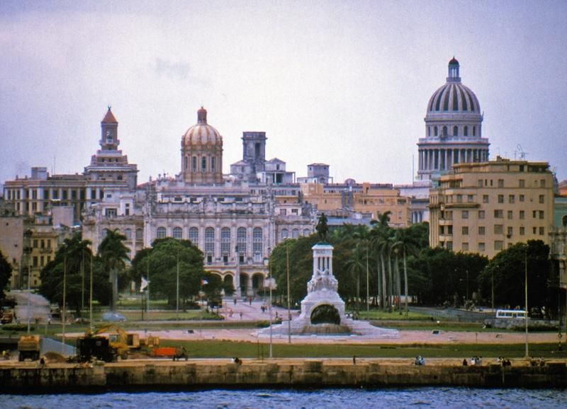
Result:
{"label": "hazy pale lavender sky above the city skyline", "polygon": [[567,1],[0,2],[0,183],[82,172],[112,105],[140,183],[179,173],[201,105],[224,140],[335,181],[410,183],[426,105],[455,56],[490,157],[567,178]]}

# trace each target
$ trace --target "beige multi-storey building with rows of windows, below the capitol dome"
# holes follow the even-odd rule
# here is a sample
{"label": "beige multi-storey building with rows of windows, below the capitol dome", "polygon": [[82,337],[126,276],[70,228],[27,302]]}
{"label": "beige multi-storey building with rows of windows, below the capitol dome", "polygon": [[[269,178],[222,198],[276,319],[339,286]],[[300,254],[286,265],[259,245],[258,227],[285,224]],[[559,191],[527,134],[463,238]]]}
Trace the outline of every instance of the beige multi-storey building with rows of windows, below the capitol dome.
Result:
{"label": "beige multi-storey building with rows of windows, below the capitol dome", "polygon": [[515,243],[549,244],[553,218],[548,163],[498,157],[454,164],[430,192],[430,246],[492,258]]}

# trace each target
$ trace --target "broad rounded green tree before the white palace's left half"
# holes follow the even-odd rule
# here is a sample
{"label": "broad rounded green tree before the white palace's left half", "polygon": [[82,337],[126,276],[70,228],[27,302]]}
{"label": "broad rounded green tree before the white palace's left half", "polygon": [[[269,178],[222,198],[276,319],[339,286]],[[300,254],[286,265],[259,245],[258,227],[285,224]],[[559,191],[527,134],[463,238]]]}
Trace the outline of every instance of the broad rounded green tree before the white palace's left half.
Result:
{"label": "broad rounded green tree before the white palace's left half", "polygon": [[130,277],[136,283],[140,283],[142,277],[149,278],[152,294],[166,297],[168,304],[174,306],[178,266],[179,298],[184,307],[190,297],[198,295],[201,290],[201,280],[208,282],[203,285],[203,291],[207,296],[218,297],[223,288],[220,277],[205,272],[203,252],[189,240],[158,238],[152,243],[152,248],[146,248],[136,254],[132,261]]}

